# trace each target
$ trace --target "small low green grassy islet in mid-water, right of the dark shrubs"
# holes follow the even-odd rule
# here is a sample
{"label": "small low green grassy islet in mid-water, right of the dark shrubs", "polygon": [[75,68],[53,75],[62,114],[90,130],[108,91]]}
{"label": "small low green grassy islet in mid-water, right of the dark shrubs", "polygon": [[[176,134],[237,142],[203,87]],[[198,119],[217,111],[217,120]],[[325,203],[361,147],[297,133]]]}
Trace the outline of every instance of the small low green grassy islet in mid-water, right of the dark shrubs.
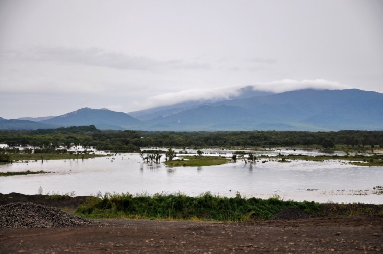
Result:
{"label": "small low green grassy islet in mid-water, right of the dark shrubs", "polygon": [[167,161],[167,166],[186,166],[186,167],[202,167],[222,165],[230,161],[230,159],[221,156],[181,156],[180,160]]}

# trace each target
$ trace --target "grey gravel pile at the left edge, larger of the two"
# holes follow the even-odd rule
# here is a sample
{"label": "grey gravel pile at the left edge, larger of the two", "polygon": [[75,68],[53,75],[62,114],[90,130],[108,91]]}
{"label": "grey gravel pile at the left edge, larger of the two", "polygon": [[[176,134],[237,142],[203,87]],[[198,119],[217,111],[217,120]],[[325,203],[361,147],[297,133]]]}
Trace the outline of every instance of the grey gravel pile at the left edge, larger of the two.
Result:
{"label": "grey gravel pile at the left edge, larger of the two", "polygon": [[102,225],[99,221],[70,215],[58,208],[34,203],[0,206],[0,228],[50,228]]}

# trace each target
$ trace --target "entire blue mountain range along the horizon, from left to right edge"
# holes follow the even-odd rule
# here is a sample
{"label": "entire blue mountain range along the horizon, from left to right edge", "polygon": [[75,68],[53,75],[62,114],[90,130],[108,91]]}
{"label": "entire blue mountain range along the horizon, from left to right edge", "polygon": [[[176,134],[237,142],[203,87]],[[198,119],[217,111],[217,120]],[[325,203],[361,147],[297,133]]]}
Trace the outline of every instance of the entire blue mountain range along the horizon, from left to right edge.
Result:
{"label": "entire blue mountain range along the horizon, from left to right edge", "polygon": [[383,130],[383,94],[358,89],[267,93],[245,87],[225,100],[185,101],[129,113],[83,108],[55,117],[0,118],[0,129],[81,125],[148,131]]}

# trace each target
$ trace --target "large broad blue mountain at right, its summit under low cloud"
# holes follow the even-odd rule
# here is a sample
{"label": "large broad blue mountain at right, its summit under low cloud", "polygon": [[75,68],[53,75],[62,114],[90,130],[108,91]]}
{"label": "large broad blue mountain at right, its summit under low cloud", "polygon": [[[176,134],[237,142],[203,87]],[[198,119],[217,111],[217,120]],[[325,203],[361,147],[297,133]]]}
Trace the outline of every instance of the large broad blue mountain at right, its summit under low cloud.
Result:
{"label": "large broad blue mountain at right, its summit under low cloud", "polygon": [[[148,119],[150,130],[381,130],[383,94],[297,90],[196,105]],[[157,111],[161,112],[161,111]],[[148,116],[148,115],[147,115]]]}

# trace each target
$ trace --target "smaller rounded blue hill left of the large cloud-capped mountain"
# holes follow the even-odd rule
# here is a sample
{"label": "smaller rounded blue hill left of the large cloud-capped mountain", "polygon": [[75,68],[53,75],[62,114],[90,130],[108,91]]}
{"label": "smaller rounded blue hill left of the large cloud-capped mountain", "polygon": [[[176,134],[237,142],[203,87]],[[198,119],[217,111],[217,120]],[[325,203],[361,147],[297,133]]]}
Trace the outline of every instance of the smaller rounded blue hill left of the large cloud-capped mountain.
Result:
{"label": "smaller rounded blue hill left of the large cloud-capped mountain", "polygon": [[143,124],[130,115],[123,112],[115,112],[108,109],[82,108],[65,115],[40,121],[41,123],[58,126],[88,126],[95,125],[98,129],[126,130],[141,128]]}

